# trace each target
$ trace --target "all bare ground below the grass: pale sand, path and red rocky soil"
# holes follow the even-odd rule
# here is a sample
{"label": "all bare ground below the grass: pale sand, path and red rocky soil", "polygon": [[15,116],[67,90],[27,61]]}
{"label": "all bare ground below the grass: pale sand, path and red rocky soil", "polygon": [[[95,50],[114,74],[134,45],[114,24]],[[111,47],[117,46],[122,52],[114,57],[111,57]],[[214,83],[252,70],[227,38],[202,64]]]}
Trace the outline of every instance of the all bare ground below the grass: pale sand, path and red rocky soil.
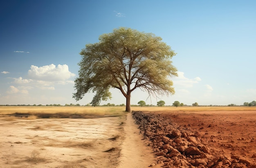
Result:
{"label": "all bare ground below the grass: pale sand, path and red rocky soil", "polygon": [[0,168],[256,168],[255,127],[256,111],[0,117]]}

